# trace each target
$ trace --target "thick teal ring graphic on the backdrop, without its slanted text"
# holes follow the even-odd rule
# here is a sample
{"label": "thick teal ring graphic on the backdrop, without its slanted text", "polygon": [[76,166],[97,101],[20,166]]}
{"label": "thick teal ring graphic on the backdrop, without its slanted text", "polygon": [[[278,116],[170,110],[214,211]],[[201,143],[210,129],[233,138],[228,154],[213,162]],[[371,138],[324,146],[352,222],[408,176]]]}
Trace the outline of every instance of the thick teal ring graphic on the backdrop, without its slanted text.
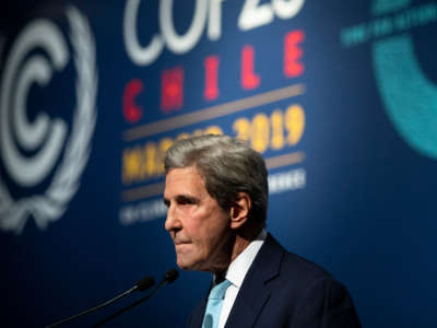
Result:
{"label": "thick teal ring graphic on the backdrop, without its slanted text", "polygon": [[[374,14],[405,8],[410,0],[376,0]],[[437,159],[437,86],[422,71],[410,34],[373,45],[375,75],[385,108],[402,138],[420,153]]]}

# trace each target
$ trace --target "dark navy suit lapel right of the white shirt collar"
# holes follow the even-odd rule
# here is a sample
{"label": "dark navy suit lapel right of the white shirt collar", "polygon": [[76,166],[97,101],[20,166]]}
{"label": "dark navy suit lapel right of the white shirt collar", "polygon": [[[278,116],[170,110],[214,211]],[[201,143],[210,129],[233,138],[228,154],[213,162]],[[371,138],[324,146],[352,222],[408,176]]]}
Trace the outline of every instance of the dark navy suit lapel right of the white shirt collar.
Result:
{"label": "dark navy suit lapel right of the white shirt collar", "polygon": [[277,277],[284,249],[269,234],[235,300],[226,328],[252,327],[270,297],[269,281]]}

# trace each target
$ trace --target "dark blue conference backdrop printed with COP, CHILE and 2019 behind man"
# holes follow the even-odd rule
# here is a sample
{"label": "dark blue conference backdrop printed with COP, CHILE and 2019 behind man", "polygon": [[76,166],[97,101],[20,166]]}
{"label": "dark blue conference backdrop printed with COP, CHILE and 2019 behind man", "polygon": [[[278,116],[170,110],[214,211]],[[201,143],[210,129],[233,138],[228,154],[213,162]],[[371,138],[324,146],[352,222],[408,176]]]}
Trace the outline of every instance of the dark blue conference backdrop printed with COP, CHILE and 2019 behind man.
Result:
{"label": "dark blue conference backdrop printed with COP, CHILE and 2019 behind man", "polygon": [[[209,132],[262,153],[268,230],[344,282],[364,327],[435,326],[436,1],[1,8],[2,326],[175,267],[162,157]],[[210,280],[180,272],[107,326],[182,326]]]}

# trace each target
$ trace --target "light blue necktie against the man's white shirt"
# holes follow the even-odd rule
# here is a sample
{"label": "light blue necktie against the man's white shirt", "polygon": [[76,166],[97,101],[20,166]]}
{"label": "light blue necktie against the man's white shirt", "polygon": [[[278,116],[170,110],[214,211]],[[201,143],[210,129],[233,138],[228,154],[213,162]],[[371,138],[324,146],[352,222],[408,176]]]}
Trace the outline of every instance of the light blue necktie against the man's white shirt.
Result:
{"label": "light blue necktie against the man's white shirt", "polygon": [[202,328],[217,328],[220,314],[222,312],[223,300],[231,281],[223,280],[221,283],[214,285],[208,296],[208,304],[205,316],[203,318]]}

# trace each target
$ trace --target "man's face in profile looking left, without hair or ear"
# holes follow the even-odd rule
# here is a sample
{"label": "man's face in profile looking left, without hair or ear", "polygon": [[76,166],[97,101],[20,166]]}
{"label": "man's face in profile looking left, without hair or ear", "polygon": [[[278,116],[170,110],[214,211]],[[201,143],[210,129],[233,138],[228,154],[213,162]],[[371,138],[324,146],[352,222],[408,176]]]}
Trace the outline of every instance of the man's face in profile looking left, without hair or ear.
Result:
{"label": "man's face in profile looking left, without hair or ear", "polygon": [[208,194],[194,166],[174,168],[165,180],[165,229],[184,270],[221,271],[229,262],[231,216]]}

